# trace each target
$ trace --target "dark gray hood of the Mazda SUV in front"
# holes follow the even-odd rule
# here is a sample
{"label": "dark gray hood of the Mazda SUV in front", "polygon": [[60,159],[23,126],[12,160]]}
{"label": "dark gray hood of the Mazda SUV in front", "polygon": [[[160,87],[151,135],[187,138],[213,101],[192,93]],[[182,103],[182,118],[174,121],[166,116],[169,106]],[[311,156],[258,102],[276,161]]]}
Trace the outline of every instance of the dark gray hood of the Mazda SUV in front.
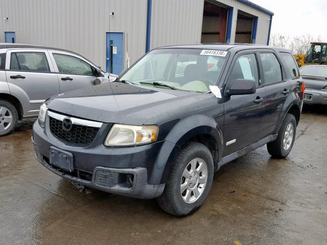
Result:
{"label": "dark gray hood of the Mazda SUV in front", "polygon": [[[151,125],[208,106],[212,94],[133,86],[112,82],[59,94],[46,102],[50,110],[101,122]],[[214,103],[214,102],[213,102]]]}

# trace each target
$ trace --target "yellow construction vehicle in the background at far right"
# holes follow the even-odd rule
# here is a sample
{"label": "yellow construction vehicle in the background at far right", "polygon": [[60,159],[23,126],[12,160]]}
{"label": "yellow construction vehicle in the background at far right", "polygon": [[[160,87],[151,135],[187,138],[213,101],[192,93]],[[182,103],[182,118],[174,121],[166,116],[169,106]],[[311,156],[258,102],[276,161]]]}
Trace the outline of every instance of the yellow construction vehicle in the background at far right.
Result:
{"label": "yellow construction vehicle in the background at far right", "polygon": [[307,54],[294,55],[298,66],[306,64],[327,65],[327,42],[312,42]]}

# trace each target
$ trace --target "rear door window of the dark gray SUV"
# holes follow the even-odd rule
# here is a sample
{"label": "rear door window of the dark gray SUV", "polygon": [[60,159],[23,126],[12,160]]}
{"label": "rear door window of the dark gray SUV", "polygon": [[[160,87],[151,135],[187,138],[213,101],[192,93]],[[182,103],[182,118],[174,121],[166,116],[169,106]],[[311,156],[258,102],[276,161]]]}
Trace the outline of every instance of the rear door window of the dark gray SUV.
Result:
{"label": "rear door window of the dark gray SUV", "polygon": [[282,81],[282,69],[276,56],[273,53],[260,54],[264,71],[265,84]]}

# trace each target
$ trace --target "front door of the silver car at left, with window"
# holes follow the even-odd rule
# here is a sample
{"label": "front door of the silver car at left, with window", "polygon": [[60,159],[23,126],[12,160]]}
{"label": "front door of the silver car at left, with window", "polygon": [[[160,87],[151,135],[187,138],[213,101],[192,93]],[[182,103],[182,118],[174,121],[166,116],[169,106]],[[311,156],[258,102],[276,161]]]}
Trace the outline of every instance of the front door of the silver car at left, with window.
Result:
{"label": "front door of the silver car at left, with window", "polygon": [[94,69],[85,59],[68,52],[49,53],[58,72],[60,93],[95,85]]}

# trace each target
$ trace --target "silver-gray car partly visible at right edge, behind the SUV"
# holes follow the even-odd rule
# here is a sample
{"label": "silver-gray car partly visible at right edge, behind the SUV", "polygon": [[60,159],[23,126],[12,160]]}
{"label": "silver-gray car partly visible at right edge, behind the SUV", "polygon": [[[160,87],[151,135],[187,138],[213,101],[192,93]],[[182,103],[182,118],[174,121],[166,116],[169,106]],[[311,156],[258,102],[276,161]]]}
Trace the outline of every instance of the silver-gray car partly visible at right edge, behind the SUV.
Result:
{"label": "silver-gray car partly visible at right edge, behind the SUV", "polygon": [[306,84],[303,102],[327,105],[327,65],[305,65],[300,74]]}

